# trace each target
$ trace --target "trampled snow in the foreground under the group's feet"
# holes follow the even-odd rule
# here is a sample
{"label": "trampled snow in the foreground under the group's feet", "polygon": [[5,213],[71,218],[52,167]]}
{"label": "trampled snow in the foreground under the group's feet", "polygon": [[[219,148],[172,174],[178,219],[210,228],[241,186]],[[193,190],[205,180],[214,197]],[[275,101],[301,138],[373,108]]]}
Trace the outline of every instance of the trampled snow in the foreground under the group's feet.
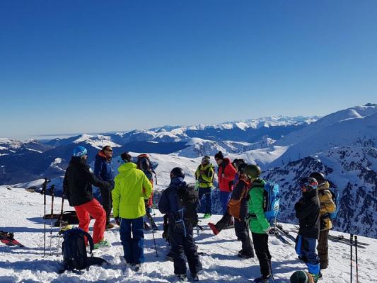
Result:
{"label": "trampled snow in the foreground under the group's feet", "polygon": [[[61,199],[55,198],[55,213],[59,213]],[[43,197],[37,193],[13,188],[7,190],[0,187],[1,230],[15,233],[16,239],[26,247],[7,247],[0,243],[0,282],[177,282],[173,277],[173,262],[164,261],[167,253],[165,241],[161,238],[162,231],[157,231],[156,244],[158,258],[153,246],[151,232],[145,235],[146,263],[140,273],[127,270],[122,262],[122,246],[118,229],[105,232],[105,237],[112,243],[112,248],[96,250],[95,255],[108,260],[110,265],[104,267],[92,266],[82,275],[71,272],[57,274],[62,256],[48,255],[50,238],[47,234],[47,256],[43,257]],[[50,200],[47,200],[50,209]],[[212,217],[216,221],[219,216]],[[162,217],[156,215],[161,229]],[[234,231],[222,231],[213,236],[207,228],[207,221],[202,219],[204,231],[195,233],[198,249],[204,255],[200,256],[204,272],[199,275],[202,282],[250,282],[259,276],[257,260],[240,260],[236,253],[240,243],[236,241]],[[47,224],[50,224],[47,221]],[[92,222],[93,224],[93,222]],[[284,224],[286,229],[291,225]],[[47,231],[50,231],[48,229]],[[340,234],[331,232],[332,234]],[[56,253],[57,229],[53,229],[52,252]],[[347,234],[344,234],[348,237]],[[359,237],[359,241],[369,243],[367,248],[359,248],[359,282],[376,282],[377,275],[377,241],[371,238]],[[62,243],[62,241],[60,242]],[[290,275],[295,270],[304,270],[305,265],[298,262],[294,247],[282,244],[276,238],[269,238],[272,253],[272,267],[275,282],[289,282]],[[349,246],[344,243],[330,241],[330,269],[323,271],[322,283],[349,282]]]}

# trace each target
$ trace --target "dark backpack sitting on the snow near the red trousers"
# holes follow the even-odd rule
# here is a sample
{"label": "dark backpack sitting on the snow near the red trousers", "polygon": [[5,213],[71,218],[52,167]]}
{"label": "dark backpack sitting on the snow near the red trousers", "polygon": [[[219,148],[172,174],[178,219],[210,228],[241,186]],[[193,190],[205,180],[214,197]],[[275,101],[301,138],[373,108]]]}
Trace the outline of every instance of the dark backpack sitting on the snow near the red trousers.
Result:
{"label": "dark backpack sitting on the snow near the red trousers", "polygon": [[[86,253],[85,237],[90,246],[91,257],[89,258]],[[60,270],[61,273],[65,270],[83,270],[91,265],[101,265],[103,262],[108,263],[103,258],[93,257],[93,238],[86,231],[77,228],[69,229],[64,232],[63,239],[62,253],[64,267],[63,270]]]}

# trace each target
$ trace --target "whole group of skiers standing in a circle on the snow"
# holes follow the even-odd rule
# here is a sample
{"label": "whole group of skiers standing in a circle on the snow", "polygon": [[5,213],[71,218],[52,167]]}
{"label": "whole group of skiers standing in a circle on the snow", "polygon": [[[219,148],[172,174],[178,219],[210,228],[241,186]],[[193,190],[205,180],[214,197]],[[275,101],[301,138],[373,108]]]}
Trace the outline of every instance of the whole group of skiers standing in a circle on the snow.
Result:
{"label": "whole group of skiers standing in a circle on the snow", "polygon": [[[103,147],[97,154],[94,173],[91,173],[86,163],[87,156],[88,152],[82,146],[74,149],[74,156],[64,177],[64,196],[76,210],[80,229],[88,231],[90,216],[95,219],[95,248],[110,246],[104,238],[104,232],[113,226],[110,223],[110,212],[113,210],[115,222],[120,226],[124,259],[129,267],[138,271],[144,262],[144,216],[153,205],[152,162],[143,155],[144,163],[147,163],[143,166],[141,158],[134,161],[128,153],[123,153],[117,169],[119,173],[114,177],[110,146]],[[224,158],[221,151],[215,154],[214,159],[218,166],[219,200],[223,217],[216,224],[208,225],[215,235],[222,229],[234,226],[237,239],[242,243],[238,257],[248,259],[254,258],[256,254],[259,260],[261,276],[254,282],[273,282],[268,238],[274,224],[265,216],[264,187],[267,182],[261,178],[262,171],[259,166],[247,164],[242,159],[232,162]],[[193,280],[198,280],[198,273],[202,270],[193,229],[198,224],[197,206],[202,199],[204,218],[211,217],[215,175],[216,169],[209,156],[202,158],[195,171],[195,186],[185,183],[182,168],[173,168],[170,185],[158,202],[158,209],[166,215],[163,237],[170,243],[169,255],[174,262],[174,273],[184,281],[187,280],[185,258]],[[91,185],[100,187],[102,206],[93,197]],[[332,228],[329,214],[335,212],[335,203],[328,190],[329,183],[322,173],[311,173],[301,178],[298,185],[302,197],[295,204],[300,223],[296,252],[298,258],[306,262],[308,272],[294,272],[291,282],[317,282],[321,276],[320,270],[328,266],[327,236],[328,230]],[[317,240],[318,254],[315,251]]]}

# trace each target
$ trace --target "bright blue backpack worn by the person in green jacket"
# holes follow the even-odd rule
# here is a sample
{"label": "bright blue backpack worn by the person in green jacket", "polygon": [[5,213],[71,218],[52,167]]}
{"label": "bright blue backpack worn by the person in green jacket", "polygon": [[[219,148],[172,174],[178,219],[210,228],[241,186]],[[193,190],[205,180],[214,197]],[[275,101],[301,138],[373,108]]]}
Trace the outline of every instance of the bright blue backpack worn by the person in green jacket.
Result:
{"label": "bright blue backpack worn by the person in green jacket", "polygon": [[[261,187],[258,183],[253,187]],[[252,187],[252,189],[253,189]],[[280,210],[280,189],[277,183],[266,182],[263,186],[263,211],[271,226],[277,219]]]}

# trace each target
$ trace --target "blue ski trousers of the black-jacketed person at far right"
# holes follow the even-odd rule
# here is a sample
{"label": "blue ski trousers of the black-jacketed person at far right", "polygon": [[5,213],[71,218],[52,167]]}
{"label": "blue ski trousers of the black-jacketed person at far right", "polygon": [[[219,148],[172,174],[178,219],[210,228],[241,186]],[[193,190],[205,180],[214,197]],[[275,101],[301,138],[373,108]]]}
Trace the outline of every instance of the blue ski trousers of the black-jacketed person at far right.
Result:
{"label": "blue ski trousers of the black-jacketed person at far right", "polygon": [[306,266],[308,266],[308,272],[313,275],[320,273],[320,260],[317,253],[315,253],[315,246],[317,239],[307,238],[298,235],[296,238],[296,253],[306,258]]}

